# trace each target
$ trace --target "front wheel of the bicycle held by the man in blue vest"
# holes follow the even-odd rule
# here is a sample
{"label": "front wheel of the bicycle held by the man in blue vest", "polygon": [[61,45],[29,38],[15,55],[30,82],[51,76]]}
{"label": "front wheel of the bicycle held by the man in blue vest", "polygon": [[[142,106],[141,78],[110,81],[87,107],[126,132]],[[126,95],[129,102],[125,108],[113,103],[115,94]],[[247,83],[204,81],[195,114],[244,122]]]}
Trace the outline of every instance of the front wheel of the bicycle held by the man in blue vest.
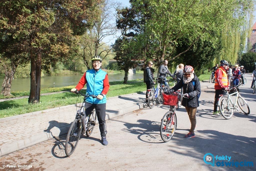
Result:
{"label": "front wheel of the bicycle held by the man in blue vest", "polygon": [[[82,132],[82,122],[79,122],[78,119],[75,119],[68,131],[66,143],[65,143],[65,153],[67,156],[70,156],[77,147],[78,141],[80,139]],[[74,142],[74,144],[72,143]]]}

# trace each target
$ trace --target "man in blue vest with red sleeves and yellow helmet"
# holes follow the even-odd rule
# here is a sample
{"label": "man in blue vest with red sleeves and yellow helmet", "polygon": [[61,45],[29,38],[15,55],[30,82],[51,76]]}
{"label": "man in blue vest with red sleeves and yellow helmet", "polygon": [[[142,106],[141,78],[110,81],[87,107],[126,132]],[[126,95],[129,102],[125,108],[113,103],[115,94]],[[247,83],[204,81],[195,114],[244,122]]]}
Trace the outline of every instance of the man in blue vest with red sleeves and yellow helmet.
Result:
{"label": "man in blue vest with red sleeves and yellow helmet", "polygon": [[108,74],[105,71],[101,70],[102,59],[100,56],[95,56],[92,58],[92,66],[93,69],[87,70],[76,88],[72,88],[71,92],[78,91],[87,84],[86,93],[89,95],[98,95],[97,98],[88,97],[86,98],[85,105],[85,113],[86,116],[90,114],[90,112],[95,108],[97,118],[99,121],[99,128],[101,134],[101,142],[103,145],[108,145],[108,141],[106,139],[106,94],[109,91],[109,78]]}

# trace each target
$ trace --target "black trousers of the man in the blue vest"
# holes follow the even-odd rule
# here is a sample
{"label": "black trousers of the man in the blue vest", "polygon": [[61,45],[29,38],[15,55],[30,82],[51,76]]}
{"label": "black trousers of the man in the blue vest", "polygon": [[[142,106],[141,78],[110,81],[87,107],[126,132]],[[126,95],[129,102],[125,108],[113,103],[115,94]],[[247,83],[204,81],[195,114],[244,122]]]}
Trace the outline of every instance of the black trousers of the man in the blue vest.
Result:
{"label": "black trousers of the man in the blue vest", "polygon": [[90,114],[90,112],[95,108],[97,118],[99,121],[99,128],[100,128],[100,135],[101,137],[106,137],[106,122],[105,122],[105,117],[106,117],[106,104],[91,104],[91,103],[86,103],[85,105],[85,113],[86,116]]}

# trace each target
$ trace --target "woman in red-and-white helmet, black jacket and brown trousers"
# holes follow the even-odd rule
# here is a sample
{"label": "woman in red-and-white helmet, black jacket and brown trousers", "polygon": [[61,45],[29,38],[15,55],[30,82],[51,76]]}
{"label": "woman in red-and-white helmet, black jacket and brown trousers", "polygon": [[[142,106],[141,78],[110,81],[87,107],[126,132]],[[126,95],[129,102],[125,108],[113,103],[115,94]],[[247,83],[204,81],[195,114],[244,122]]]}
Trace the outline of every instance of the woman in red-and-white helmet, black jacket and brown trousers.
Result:
{"label": "woman in red-and-white helmet, black jacket and brown trousers", "polygon": [[173,88],[165,92],[166,94],[172,94],[180,88],[183,88],[184,95],[187,98],[182,99],[182,106],[185,107],[188,117],[191,123],[189,133],[184,138],[195,137],[196,127],[196,110],[199,106],[199,96],[201,94],[199,78],[193,73],[194,68],[190,65],[186,65],[183,69],[183,77],[181,81]]}

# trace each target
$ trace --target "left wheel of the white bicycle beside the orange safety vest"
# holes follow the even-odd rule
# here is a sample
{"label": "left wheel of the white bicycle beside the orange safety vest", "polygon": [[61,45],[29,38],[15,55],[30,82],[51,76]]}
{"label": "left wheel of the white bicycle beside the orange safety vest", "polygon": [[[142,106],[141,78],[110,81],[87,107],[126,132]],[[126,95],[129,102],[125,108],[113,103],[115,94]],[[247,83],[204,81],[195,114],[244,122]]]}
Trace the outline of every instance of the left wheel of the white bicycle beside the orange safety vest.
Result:
{"label": "left wheel of the white bicycle beside the orange safety vest", "polygon": [[232,116],[234,114],[234,110],[233,110],[233,104],[232,104],[231,100],[227,96],[222,96],[222,97],[220,97],[219,100],[220,100],[219,109],[220,109],[221,115],[225,119],[232,118]]}

